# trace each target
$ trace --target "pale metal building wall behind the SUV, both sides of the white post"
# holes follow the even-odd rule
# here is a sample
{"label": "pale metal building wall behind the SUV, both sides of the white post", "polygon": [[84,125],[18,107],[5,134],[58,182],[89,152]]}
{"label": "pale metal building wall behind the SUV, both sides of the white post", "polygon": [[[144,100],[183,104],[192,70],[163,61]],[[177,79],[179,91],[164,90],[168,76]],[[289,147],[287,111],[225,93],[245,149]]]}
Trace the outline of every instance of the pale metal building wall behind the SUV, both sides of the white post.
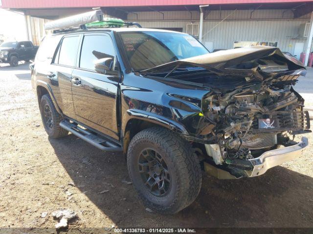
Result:
{"label": "pale metal building wall behind the SUV, both sides of the white post", "polygon": [[[199,23],[199,19],[198,11],[128,14],[128,20],[138,21],[143,27],[182,28],[183,32],[187,23]],[[309,21],[309,15],[293,19],[291,10],[211,11],[203,21],[202,42],[213,42],[214,49],[229,49],[234,41],[277,41],[282,51],[292,54],[296,42],[306,42],[306,38],[298,38],[298,28]]]}

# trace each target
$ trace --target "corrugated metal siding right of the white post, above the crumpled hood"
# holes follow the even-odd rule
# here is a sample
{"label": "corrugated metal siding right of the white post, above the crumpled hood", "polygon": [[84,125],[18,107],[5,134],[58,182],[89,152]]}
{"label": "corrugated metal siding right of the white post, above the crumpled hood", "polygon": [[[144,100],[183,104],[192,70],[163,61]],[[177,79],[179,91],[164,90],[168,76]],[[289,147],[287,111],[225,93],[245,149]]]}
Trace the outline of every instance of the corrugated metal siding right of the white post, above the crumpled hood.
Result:
{"label": "corrugated metal siding right of the white post, above the crumpled hood", "polygon": [[258,20],[258,21],[224,21],[212,29],[217,22],[203,23],[202,41],[212,41],[215,49],[233,47],[234,41],[271,41],[278,42],[282,51],[293,53],[295,42],[305,42],[297,37],[298,28],[306,20]]}

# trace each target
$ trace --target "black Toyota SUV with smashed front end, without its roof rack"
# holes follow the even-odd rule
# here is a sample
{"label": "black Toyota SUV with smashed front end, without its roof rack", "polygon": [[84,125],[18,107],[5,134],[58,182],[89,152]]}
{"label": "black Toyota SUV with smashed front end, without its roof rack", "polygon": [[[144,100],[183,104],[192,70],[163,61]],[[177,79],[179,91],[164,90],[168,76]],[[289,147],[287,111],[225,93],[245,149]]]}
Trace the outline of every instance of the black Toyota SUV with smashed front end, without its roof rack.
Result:
{"label": "black Toyota SUV with smashed front end, without its roof rack", "polygon": [[122,152],[156,212],[191,204],[202,171],[260,176],[308,145],[292,140],[310,132],[292,88],[305,68],[277,48],[210,54],[184,33],[82,27],[47,36],[30,67],[48,136]]}

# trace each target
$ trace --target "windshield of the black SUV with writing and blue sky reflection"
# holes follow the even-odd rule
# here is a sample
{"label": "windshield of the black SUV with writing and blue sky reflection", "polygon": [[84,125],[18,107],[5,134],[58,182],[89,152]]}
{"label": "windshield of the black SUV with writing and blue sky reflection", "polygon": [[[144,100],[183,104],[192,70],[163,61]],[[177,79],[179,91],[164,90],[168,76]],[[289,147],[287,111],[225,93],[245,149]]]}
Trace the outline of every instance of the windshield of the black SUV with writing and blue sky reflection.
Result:
{"label": "windshield of the black SUV with writing and blue sky reflection", "polygon": [[190,35],[167,32],[120,32],[134,71],[209,53]]}

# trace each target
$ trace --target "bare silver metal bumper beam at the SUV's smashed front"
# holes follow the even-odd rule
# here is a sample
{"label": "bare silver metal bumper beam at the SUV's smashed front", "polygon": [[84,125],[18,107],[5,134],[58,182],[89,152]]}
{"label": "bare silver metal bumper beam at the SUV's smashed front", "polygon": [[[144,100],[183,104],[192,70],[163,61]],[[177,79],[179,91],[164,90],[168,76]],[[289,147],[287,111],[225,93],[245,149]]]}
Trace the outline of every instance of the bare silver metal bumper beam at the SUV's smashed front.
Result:
{"label": "bare silver metal bumper beam at the SUV's smashed front", "polygon": [[299,156],[301,156],[302,152],[309,145],[309,141],[307,137],[302,137],[301,141],[295,145],[288,146],[281,149],[270,150],[263,153],[261,156],[253,159],[249,159],[249,161],[254,166],[253,171],[246,171],[247,176],[260,176],[269,168],[281,165],[284,162],[291,161]]}

